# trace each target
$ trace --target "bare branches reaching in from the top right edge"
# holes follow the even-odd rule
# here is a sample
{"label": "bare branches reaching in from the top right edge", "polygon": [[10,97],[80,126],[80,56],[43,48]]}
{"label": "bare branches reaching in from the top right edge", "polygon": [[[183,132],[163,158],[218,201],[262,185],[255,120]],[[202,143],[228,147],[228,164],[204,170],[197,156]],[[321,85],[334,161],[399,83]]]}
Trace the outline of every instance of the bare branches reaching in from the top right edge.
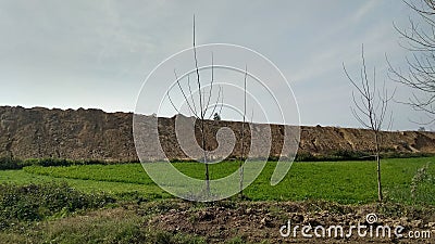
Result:
{"label": "bare branches reaching in from the top right edge", "polygon": [[[401,44],[407,49],[412,59],[406,57],[407,74],[400,68],[395,68],[386,56],[389,66],[389,78],[402,85],[406,85],[419,93],[428,94],[409,98],[405,104],[410,105],[415,111],[422,111],[430,115],[430,120],[435,120],[434,94],[435,94],[435,1],[403,1],[421,21],[421,25],[409,18],[409,29],[400,29],[394,24],[394,28],[405,40]],[[418,5],[417,2],[420,4]]]}

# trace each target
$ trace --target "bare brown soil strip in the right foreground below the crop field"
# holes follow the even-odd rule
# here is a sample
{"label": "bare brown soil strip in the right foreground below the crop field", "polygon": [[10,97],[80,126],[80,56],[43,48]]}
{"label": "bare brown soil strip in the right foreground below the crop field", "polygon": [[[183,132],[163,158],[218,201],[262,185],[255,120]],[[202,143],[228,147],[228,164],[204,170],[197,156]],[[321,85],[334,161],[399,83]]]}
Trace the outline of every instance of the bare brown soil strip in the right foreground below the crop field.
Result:
{"label": "bare brown soil strip in the right foreground below the crop field", "polygon": [[[198,205],[198,204],[197,204]],[[369,224],[366,215],[376,214],[378,221]],[[279,229],[290,220],[291,229],[299,226],[296,237],[290,234],[283,237]],[[368,227],[368,235],[360,237],[357,230],[350,237],[303,237],[300,229],[323,226],[343,226],[345,235],[348,228],[358,223]],[[263,202],[263,203],[214,203],[200,205],[184,203],[173,205],[167,211],[153,217],[148,224],[171,233],[188,233],[206,237],[208,243],[222,243],[239,239],[248,243],[435,243],[435,211],[417,209],[399,205],[348,206],[322,202]],[[370,226],[373,226],[373,237],[370,237]],[[375,228],[388,226],[390,237],[376,237]],[[394,228],[401,226],[409,231],[430,231],[428,239],[398,239]],[[333,229],[334,230],[334,229]],[[363,229],[361,229],[363,233]],[[284,230],[285,232],[285,230]],[[311,232],[313,234],[313,232]]]}

